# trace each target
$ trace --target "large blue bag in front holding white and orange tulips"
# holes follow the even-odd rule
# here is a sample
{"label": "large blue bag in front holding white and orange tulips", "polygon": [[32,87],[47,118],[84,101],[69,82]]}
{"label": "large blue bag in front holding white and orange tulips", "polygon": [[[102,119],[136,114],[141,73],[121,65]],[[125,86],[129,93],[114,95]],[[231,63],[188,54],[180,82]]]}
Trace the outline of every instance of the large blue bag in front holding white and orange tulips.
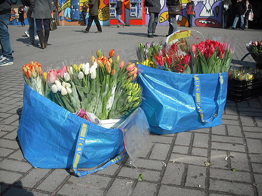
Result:
{"label": "large blue bag in front holding white and orange tulips", "polygon": [[[131,120],[130,116],[125,118],[125,127],[103,128],[61,108],[25,84],[24,107],[17,134],[24,157],[33,167],[73,168],[77,175],[84,176],[127,155],[124,135],[132,134],[132,131],[125,129],[148,131],[143,110],[138,108],[132,114]],[[141,139],[140,142],[145,141]],[[77,171],[77,168],[92,168],[106,161],[99,169]]]}

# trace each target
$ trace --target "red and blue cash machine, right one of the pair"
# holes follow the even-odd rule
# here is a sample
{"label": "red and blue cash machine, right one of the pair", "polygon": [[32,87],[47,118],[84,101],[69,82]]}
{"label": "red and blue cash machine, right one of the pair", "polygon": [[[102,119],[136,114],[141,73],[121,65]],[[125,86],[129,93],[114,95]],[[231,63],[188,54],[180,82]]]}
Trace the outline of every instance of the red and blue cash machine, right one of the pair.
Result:
{"label": "red and blue cash machine, right one of the pair", "polygon": [[146,25],[146,11],[143,7],[143,0],[130,0],[129,23],[130,26]]}

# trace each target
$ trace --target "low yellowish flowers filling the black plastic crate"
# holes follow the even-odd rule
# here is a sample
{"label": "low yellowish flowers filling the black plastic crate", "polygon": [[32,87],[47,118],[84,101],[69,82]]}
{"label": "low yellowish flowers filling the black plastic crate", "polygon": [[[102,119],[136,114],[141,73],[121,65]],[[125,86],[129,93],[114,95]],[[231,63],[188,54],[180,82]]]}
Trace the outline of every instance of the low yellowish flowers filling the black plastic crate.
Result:
{"label": "low yellowish flowers filling the black plastic crate", "polygon": [[249,67],[230,68],[228,71],[228,79],[236,80],[253,80],[262,78],[262,70],[252,69]]}

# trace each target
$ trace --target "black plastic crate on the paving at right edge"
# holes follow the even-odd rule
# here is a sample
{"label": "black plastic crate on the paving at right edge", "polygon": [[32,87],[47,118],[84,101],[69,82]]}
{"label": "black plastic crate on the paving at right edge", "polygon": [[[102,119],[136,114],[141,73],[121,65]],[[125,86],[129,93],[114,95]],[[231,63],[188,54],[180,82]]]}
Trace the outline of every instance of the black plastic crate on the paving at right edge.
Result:
{"label": "black plastic crate on the paving at right edge", "polygon": [[262,94],[262,78],[250,81],[228,80],[227,99],[235,102],[250,99]]}

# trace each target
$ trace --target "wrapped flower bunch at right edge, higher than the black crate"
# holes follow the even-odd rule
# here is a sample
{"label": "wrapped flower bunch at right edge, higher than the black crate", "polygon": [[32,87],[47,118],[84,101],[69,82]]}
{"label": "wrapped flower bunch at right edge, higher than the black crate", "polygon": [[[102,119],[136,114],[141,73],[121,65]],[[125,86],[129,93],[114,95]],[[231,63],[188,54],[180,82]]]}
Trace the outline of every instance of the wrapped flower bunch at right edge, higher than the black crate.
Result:
{"label": "wrapped flower bunch at right edge, higher than the black crate", "polygon": [[256,42],[249,42],[246,44],[246,49],[257,64],[262,66],[262,40]]}

